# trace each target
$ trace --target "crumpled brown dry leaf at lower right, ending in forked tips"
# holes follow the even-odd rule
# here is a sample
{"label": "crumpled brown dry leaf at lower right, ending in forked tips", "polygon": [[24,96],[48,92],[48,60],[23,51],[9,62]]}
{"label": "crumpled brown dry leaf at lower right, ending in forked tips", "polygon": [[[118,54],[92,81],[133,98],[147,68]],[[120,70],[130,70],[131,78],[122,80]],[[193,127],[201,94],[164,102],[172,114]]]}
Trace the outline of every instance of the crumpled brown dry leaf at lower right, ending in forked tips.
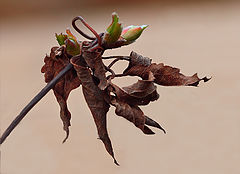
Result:
{"label": "crumpled brown dry leaf at lower right, ending in forked tips", "polygon": [[116,107],[115,113],[132,122],[145,134],[154,134],[146,125],[159,128],[165,133],[165,130],[156,121],[145,116],[138,107],[139,105],[147,105],[159,98],[153,80],[153,74],[150,72],[147,80],[138,80],[137,83],[122,89],[111,83],[110,88],[111,92],[115,93],[111,99],[111,104]]}

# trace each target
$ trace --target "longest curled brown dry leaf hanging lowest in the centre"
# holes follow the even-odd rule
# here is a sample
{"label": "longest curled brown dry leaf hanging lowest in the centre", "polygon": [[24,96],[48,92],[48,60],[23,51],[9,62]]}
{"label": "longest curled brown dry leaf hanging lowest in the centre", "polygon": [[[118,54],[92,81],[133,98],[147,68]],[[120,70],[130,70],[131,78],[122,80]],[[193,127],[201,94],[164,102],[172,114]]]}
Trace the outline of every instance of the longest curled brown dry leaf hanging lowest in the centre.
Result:
{"label": "longest curled brown dry leaf hanging lowest in the centre", "polygon": [[91,75],[91,71],[86,67],[86,63],[82,56],[75,57],[71,60],[77,75],[82,82],[82,90],[88,107],[93,115],[99,139],[105,145],[107,152],[113,157],[114,163],[119,165],[114,157],[111,140],[107,132],[107,112],[109,104],[105,101],[106,91],[100,90],[97,86],[98,81]]}

